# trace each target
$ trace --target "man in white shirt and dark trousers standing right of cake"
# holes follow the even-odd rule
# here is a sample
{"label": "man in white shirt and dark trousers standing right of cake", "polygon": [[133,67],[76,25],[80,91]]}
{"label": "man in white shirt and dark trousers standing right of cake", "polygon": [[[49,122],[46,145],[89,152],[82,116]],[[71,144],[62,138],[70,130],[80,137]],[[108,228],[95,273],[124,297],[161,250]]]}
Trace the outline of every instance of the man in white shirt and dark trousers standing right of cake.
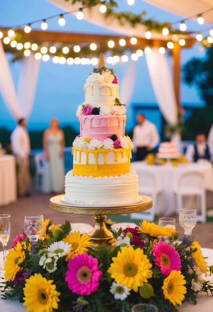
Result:
{"label": "man in white shirt and dark trousers standing right of cake", "polygon": [[156,125],[147,120],[144,114],[137,114],[136,118],[138,124],[133,129],[133,153],[136,153],[136,160],[143,160],[159,143],[160,135]]}

